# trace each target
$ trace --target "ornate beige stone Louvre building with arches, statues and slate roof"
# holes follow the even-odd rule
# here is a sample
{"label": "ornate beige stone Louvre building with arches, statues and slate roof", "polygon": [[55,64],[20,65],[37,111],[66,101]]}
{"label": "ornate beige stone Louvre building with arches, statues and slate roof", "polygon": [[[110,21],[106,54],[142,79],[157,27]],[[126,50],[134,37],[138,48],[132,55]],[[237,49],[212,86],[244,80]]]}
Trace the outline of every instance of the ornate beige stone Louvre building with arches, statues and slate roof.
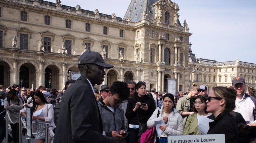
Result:
{"label": "ornate beige stone Louvre building with arches, statues and slate roof", "polygon": [[123,18],[85,9],[59,0],[1,0],[0,84],[62,89],[69,72],[79,72],[78,57],[91,50],[114,65],[105,69],[102,84],[108,86],[145,81],[148,89],[166,92],[167,79],[175,79],[177,91],[193,84],[210,90],[229,87],[240,75],[247,87],[256,87],[254,63],[196,58],[189,23],[179,19],[180,8],[171,0],[131,0]]}

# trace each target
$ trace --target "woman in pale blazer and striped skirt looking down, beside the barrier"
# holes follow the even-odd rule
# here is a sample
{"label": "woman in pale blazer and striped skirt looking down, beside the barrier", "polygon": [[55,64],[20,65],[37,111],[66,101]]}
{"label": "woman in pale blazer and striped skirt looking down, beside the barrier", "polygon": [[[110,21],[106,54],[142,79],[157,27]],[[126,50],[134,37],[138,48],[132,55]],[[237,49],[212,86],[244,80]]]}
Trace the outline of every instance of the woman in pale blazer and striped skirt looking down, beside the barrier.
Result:
{"label": "woman in pale blazer and striped skirt looking down, beside the barrier", "polygon": [[[42,92],[36,91],[33,96],[32,109],[32,132],[36,138],[36,143],[44,143],[45,137],[45,123],[50,123],[49,128],[53,130],[55,128],[54,115],[53,115],[53,104],[49,104]],[[22,109],[21,114],[26,117],[26,108]],[[50,142],[52,139],[50,134]]]}

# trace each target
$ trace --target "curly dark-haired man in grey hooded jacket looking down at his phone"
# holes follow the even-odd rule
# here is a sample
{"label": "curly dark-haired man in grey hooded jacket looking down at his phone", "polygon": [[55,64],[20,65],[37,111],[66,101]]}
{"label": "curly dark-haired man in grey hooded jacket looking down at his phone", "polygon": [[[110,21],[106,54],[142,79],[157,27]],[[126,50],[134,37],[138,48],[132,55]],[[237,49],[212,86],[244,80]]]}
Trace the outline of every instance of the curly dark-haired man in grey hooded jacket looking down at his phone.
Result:
{"label": "curly dark-haired man in grey hooded jacket looking down at his phone", "polygon": [[125,116],[123,109],[119,106],[129,97],[128,85],[123,81],[115,81],[109,89],[106,98],[100,98],[98,102],[103,125],[103,135],[108,137],[119,137],[121,140],[126,135]]}

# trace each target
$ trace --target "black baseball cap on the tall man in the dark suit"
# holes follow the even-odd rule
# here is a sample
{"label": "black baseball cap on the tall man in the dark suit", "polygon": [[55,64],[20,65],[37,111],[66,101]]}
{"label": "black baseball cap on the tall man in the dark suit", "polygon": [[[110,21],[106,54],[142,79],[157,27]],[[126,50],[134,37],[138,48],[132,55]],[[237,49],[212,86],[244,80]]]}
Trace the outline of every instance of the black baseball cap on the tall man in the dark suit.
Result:
{"label": "black baseball cap on the tall man in the dark suit", "polygon": [[113,65],[104,62],[103,57],[98,52],[86,51],[78,58],[78,65],[85,64],[96,64],[98,66],[104,67],[106,69],[113,68]]}

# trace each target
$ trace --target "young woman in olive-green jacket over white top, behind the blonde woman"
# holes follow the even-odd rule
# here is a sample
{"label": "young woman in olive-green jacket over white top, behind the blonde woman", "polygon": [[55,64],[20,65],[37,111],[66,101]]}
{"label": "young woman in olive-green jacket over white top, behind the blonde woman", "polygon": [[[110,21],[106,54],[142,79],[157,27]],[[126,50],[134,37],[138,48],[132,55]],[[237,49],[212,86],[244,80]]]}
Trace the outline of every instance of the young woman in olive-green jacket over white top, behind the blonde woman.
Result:
{"label": "young woman in olive-green jacket over white top, behind the blonde woman", "polygon": [[183,135],[200,135],[198,123],[202,116],[210,116],[206,111],[206,96],[198,95],[194,97],[194,113],[189,115]]}

